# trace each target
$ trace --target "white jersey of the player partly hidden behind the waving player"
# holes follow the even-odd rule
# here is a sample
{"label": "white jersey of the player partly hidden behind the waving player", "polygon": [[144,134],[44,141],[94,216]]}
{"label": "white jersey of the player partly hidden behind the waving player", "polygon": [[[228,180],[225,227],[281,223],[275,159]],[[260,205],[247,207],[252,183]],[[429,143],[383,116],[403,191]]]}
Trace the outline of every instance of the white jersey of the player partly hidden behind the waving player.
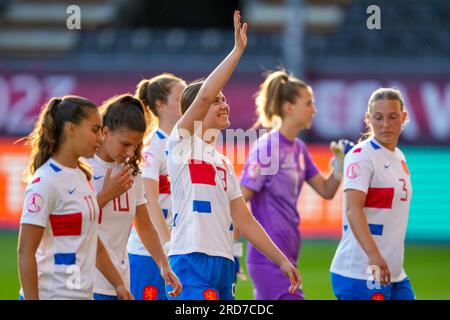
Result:
{"label": "white jersey of the player partly hidden behind the waving player", "polygon": [[[173,214],[170,180],[167,173],[167,156],[165,153],[167,138],[168,135],[160,128],[155,130],[153,135],[149,136],[142,150],[144,157],[142,178],[159,182],[158,202],[170,230],[173,224]],[[134,227],[128,239],[128,252],[131,254],[150,256],[150,253],[145,249]]]}

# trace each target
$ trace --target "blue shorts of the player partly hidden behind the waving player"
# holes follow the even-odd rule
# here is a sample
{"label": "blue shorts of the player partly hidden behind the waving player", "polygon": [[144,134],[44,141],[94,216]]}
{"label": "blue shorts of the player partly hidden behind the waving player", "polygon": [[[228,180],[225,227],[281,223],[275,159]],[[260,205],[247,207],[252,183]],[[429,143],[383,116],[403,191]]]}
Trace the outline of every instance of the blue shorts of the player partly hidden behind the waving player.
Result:
{"label": "blue shorts of the player partly hidden behind the waving player", "polygon": [[166,283],[150,256],[128,254],[130,259],[131,293],[136,300],[167,300]]}

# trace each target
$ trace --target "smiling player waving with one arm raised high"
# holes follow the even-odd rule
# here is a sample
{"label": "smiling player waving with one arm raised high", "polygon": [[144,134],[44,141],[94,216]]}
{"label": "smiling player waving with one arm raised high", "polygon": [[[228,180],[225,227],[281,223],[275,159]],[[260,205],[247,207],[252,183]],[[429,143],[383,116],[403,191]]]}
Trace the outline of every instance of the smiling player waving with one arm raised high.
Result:
{"label": "smiling player waving with one arm raised high", "polygon": [[249,212],[232,163],[214,147],[220,130],[230,125],[229,106],[221,90],[247,44],[247,25],[241,26],[239,11],[234,13],[234,30],[230,54],[205,81],[183,91],[183,116],[167,143],[174,210],[169,261],[184,286],[180,299],[234,299],[233,222],[280,266],[291,280],[291,292],[301,283],[299,271]]}

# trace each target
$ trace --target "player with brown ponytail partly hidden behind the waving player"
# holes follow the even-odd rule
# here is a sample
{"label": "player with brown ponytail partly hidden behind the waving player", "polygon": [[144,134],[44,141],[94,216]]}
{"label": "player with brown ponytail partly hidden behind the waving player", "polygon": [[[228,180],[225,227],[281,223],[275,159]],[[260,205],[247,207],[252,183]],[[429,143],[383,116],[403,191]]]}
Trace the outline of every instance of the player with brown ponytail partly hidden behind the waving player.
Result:
{"label": "player with brown ponytail partly hidden behind the waving player", "polygon": [[[173,214],[165,148],[168,133],[181,117],[180,96],[185,87],[184,80],[164,73],[142,80],[135,94],[158,120],[158,128],[149,136],[142,150],[142,181],[148,212],[166,254],[170,249]],[[165,281],[161,278],[159,267],[142,244],[135,228],[131,230],[128,240],[128,254],[134,297],[138,300],[167,300]]]}

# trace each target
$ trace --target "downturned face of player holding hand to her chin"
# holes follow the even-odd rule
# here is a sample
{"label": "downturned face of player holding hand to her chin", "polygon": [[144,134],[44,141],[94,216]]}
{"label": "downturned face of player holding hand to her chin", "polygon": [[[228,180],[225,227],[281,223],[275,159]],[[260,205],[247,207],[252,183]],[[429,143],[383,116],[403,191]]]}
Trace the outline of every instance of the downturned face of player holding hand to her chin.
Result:
{"label": "downturned face of player holding hand to her chin", "polygon": [[133,157],[134,152],[144,139],[144,132],[129,130],[126,128],[109,130],[103,128],[104,142],[102,148],[107,161],[123,163],[126,158]]}

